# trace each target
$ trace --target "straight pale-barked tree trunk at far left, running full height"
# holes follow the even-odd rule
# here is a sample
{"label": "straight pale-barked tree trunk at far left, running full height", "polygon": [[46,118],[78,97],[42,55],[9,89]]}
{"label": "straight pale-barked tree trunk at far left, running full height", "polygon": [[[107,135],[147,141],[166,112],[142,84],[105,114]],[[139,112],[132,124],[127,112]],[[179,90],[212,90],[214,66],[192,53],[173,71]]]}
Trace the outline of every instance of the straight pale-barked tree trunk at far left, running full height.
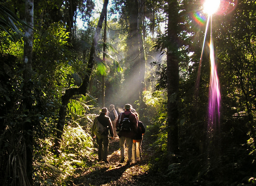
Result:
{"label": "straight pale-barked tree trunk at far left, running full height", "polygon": [[[34,0],[25,1],[25,21],[28,25],[31,25],[31,28],[25,27],[25,36],[24,40],[24,88],[23,88],[23,109],[26,110],[24,113],[29,117],[30,112],[32,112],[32,107],[34,100],[31,98],[33,82],[31,82],[32,74],[32,57],[33,57],[33,22],[34,22]],[[26,151],[24,155],[25,170],[28,178],[28,185],[33,185],[33,126],[35,124],[31,123],[31,119],[28,118],[22,126],[24,131],[24,139],[26,144]],[[29,122],[30,121],[30,122]]]}

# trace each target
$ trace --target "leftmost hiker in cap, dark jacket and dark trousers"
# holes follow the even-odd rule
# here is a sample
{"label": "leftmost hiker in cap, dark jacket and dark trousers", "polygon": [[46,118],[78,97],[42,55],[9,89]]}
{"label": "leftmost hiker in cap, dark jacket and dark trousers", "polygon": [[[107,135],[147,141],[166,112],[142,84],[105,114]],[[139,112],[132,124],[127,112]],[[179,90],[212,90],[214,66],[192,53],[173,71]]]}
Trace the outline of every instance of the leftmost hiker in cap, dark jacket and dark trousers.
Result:
{"label": "leftmost hiker in cap, dark jacket and dark trousers", "polygon": [[[98,160],[99,161],[103,160],[105,163],[109,163],[107,160],[109,132],[110,132],[111,139],[114,139],[113,138],[113,136],[114,136],[113,126],[112,126],[110,118],[106,116],[107,113],[108,113],[108,110],[106,107],[101,109],[100,115],[94,119],[94,122],[92,125],[92,133],[91,133],[91,137],[96,138],[97,143],[99,145]],[[95,128],[97,127],[97,122],[99,122],[101,125],[103,125],[104,132],[101,135],[97,135],[95,137],[94,131],[95,131]]]}

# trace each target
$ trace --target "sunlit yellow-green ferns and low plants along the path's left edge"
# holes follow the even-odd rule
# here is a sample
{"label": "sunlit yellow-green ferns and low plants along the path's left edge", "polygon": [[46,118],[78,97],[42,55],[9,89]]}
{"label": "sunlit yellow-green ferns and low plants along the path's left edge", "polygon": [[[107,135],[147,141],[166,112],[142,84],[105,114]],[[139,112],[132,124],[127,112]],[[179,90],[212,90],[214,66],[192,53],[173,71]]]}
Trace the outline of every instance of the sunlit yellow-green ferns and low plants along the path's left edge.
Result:
{"label": "sunlit yellow-green ferns and low plants along the path's left edge", "polygon": [[35,151],[35,185],[68,185],[70,178],[77,170],[87,167],[92,153],[92,139],[81,126],[69,125],[64,128],[62,148],[60,155],[53,155],[51,140],[40,140]]}

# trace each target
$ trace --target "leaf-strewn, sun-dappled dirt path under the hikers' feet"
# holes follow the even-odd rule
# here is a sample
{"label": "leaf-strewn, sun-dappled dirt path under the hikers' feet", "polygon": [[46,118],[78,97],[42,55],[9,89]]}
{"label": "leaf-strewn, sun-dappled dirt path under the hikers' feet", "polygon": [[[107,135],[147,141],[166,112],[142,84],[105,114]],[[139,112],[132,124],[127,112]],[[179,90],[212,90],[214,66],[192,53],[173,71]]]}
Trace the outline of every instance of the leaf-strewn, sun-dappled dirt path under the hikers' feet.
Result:
{"label": "leaf-strewn, sun-dappled dirt path under the hikers' feet", "polygon": [[[146,135],[146,134],[145,134]],[[154,153],[149,134],[142,141],[142,160],[135,164],[120,163],[119,138],[110,139],[108,161],[97,162],[97,155],[73,179],[74,186],[157,186],[167,185],[161,175],[150,171],[150,157]],[[95,141],[94,141],[95,142]],[[96,143],[96,142],[95,142]],[[97,152],[95,152],[97,153]]]}

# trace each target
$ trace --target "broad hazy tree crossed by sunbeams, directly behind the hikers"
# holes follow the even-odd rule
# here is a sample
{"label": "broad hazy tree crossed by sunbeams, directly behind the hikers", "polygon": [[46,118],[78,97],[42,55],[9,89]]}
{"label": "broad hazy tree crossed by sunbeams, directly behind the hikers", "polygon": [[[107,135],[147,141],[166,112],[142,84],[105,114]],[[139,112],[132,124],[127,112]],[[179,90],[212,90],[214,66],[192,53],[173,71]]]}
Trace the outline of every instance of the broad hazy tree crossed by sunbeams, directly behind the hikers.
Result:
{"label": "broad hazy tree crossed by sunbeams, directly behind the hikers", "polygon": [[147,0],[116,0],[113,4],[113,8],[119,12],[121,28],[127,34],[125,49],[128,52],[125,57],[126,71],[123,87],[129,89],[129,93],[126,93],[121,100],[130,103],[136,100],[143,101],[142,92],[146,87],[146,47],[144,38],[147,38],[150,32],[152,32],[152,35],[155,32],[159,33],[160,26],[156,25],[156,22],[165,18],[163,12],[165,3],[163,1],[155,3]]}

